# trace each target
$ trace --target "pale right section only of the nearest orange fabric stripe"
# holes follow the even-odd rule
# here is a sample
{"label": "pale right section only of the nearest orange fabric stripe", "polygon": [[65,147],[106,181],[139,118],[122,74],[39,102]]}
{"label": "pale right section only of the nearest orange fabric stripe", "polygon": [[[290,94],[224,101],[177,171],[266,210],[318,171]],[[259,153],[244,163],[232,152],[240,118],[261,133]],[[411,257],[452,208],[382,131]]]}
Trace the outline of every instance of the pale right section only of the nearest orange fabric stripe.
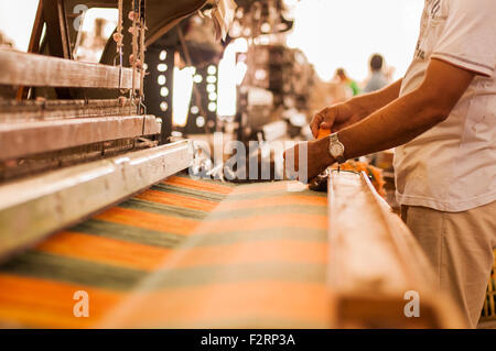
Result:
{"label": "pale right section only of the nearest orange fabric stripe", "polygon": [[257,281],[141,292],[103,327],[228,328],[233,320],[246,320],[244,327],[278,327],[263,320],[328,327],[330,310],[325,284]]}

